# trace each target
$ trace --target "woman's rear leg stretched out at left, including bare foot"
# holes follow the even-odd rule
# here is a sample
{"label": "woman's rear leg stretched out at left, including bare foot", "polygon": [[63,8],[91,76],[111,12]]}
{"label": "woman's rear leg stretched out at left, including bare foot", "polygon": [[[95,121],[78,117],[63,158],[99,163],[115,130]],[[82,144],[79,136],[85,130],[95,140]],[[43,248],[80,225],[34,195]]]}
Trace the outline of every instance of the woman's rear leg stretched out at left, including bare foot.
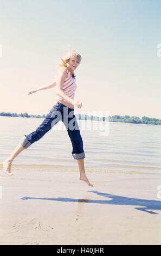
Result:
{"label": "woman's rear leg stretched out at left, including bare foot", "polygon": [[11,163],[15,159],[15,157],[20,154],[24,149],[27,149],[31,144],[42,138],[46,132],[48,132],[55,124],[57,124],[61,120],[61,114],[60,112],[58,112],[59,109],[54,106],[48,113],[47,117],[43,120],[41,125],[38,126],[36,131],[31,132],[29,135],[23,136],[21,138],[21,142],[17,145],[11,155],[3,162],[3,170],[5,173],[10,176],[13,175],[10,169]]}

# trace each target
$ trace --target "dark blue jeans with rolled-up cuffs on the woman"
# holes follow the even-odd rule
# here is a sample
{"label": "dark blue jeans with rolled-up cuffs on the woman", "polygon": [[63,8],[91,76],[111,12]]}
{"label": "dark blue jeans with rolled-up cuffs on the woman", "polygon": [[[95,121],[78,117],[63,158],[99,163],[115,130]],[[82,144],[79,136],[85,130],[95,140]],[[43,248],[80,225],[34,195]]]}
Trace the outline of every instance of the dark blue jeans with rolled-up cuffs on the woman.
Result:
{"label": "dark blue jeans with rolled-up cuffs on the woman", "polygon": [[21,145],[27,149],[31,144],[41,139],[60,120],[65,124],[70,141],[72,142],[72,156],[76,160],[84,159],[85,152],[83,150],[83,141],[74,114],[74,108],[69,108],[60,102],[57,102],[53,108],[51,108],[47,117],[43,120],[42,124],[37,127],[36,131],[29,133],[29,135],[24,135],[21,138]]}

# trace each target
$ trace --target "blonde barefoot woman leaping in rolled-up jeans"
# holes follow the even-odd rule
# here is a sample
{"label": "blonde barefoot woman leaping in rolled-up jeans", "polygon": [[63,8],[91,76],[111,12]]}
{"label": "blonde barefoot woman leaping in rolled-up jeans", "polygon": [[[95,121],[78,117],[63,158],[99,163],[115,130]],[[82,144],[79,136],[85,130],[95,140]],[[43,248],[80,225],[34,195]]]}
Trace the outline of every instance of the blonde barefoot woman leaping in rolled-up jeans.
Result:
{"label": "blonde barefoot woman leaping in rolled-up jeans", "polygon": [[[38,126],[36,131],[29,133],[29,135],[24,135],[21,138],[21,142],[17,145],[8,159],[4,160],[3,169],[8,175],[13,175],[10,168],[15,157],[20,154],[22,150],[27,149],[31,144],[42,138],[46,132],[61,120],[65,124],[70,141],[72,142],[72,156],[78,162],[80,171],[79,179],[85,181],[89,186],[93,186],[93,184],[91,184],[87,179],[85,173],[83,160],[85,158],[85,152],[83,150],[83,142],[79,126],[74,115],[74,105],[78,108],[82,107],[81,101],[74,100],[74,92],[76,89],[74,70],[78,67],[80,62],[80,54],[77,52],[68,53],[65,58],[61,58],[60,69],[56,74],[56,80],[54,83],[50,86],[42,87],[28,93],[28,95],[30,95],[38,90],[49,89],[56,86],[56,101],[55,105],[47,114],[47,117],[43,120],[42,124]],[[74,124],[74,127],[71,123]]]}

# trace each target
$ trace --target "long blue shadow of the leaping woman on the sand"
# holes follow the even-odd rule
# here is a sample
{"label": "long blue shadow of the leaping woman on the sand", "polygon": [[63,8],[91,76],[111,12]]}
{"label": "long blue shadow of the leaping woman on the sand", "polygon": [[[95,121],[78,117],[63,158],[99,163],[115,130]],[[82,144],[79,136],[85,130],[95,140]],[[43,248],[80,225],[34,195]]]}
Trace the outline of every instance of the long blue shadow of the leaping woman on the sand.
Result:
{"label": "long blue shadow of the leaping woman on the sand", "polygon": [[51,200],[51,201],[61,201],[61,202],[73,202],[73,203],[79,202],[79,203],[94,203],[94,204],[135,205],[135,206],[139,206],[139,207],[136,207],[135,209],[148,212],[149,214],[158,214],[157,212],[153,212],[149,210],[161,210],[161,201],[122,197],[122,196],[116,196],[114,194],[101,193],[94,190],[91,190],[88,192],[96,193],[102,197],[107,197],[108,200],[74,199],[74,198],[64,198],[64,197],[57,197],[57,198],[23,197],[21,199],[22,200],[40,199],[40,200]]}

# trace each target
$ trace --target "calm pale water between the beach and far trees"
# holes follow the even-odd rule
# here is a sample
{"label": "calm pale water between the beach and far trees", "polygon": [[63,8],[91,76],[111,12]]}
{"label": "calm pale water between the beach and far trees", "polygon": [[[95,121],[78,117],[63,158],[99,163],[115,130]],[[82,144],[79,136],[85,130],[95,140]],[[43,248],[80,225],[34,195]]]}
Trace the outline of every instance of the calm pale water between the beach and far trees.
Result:
{"label": "calm pale water between the beach and far trees", "polygon": [[[43,119],[0,117],[0,163],[14,150],[23,135],[42,123]],[[83,129],[91,125],[92,129]],[[161,172],[161,126],[145,124],[108,123],[108,136],[94,130],[98,122],[78,120],[85,151],[85,167],[105,172]],[[105,122],[99,122],[105,127]],[[107,125],[107,123],[106,123]],[[22,151],[15,166],[32,168],[78,169],[72,156],[72,143],[65,126],[59,122],[39,141]],[[62,130],[63,128],[63,130]],[[30,164],[30,166],[28,166]],[[48,166],[46,166],[48,165]]]}

